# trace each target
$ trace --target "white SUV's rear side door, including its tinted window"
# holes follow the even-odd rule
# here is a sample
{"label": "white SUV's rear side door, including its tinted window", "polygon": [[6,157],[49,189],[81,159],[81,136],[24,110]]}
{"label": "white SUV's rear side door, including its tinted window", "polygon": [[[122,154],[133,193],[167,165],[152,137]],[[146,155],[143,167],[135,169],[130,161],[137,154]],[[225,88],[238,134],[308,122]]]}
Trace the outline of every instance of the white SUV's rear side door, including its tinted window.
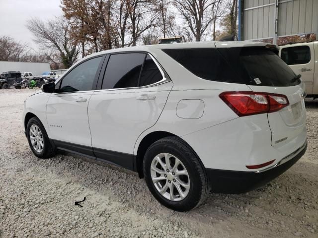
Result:
{"label": "white SUV's rear side door, including its tinted window", "polygon": [[171,88],[150,55],[110,55],[101,88],[88,105],[97,159],[132,170],[137,138],[159,119]]}

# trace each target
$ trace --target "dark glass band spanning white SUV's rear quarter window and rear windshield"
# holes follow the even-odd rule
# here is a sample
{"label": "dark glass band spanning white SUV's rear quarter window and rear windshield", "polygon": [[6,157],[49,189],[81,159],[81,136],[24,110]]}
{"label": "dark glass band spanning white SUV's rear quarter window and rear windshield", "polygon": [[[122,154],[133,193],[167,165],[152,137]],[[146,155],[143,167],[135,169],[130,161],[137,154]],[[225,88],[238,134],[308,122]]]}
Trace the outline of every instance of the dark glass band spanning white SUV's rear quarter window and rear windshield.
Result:
{"label": "dark glass band spanning white SUV's rear quarter window and rear windshield", "polygon": [[190,72],[206,80],[258,86],[294,86],[293,70],[264,47],[163,50]]}

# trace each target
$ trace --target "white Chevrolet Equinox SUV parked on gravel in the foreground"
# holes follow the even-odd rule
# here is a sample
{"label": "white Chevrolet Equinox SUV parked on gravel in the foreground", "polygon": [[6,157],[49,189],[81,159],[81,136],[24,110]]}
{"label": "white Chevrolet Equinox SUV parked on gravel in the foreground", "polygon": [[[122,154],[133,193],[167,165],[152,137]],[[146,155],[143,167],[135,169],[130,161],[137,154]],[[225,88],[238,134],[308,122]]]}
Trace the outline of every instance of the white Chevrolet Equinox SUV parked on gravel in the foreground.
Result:
{"label": "white Chevrolet Equinox SUV parked on gravel in the foreground", "polygon": [[276,178],[307,148],[305,85],[274,45],[201,42],[99,52],[25,101],[40,158],[66,150],[135,171],[164,206]]}

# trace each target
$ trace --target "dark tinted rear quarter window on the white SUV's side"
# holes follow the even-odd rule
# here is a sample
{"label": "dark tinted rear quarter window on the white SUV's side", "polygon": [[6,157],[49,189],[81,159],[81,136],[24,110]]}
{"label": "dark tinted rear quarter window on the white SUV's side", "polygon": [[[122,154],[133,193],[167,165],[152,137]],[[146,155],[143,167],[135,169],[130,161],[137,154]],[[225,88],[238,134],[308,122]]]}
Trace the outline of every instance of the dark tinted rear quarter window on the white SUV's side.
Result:
{"label": "dark tinted rear quarter window on the white SUV's side", "polygon": [[165,49],[162,51],[200,78],[241,83],[216,49]]}

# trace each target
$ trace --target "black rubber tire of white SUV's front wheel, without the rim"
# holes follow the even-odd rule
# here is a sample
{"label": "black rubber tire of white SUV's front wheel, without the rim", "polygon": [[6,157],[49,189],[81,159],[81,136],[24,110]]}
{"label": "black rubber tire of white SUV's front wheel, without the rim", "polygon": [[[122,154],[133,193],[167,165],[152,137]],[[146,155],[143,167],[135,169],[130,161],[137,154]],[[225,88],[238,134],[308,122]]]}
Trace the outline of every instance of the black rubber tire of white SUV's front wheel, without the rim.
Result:
{"label": "black rubber tire of white SUV's front wheel, without the rim", "polygon": [[[44,145],[43,145],[43,150],[41,152],[35,151],[35,149],[32,146],[31,139],[30,139],[30,128],[32,125],[36,125],[42,133]],[[55,146],[51,143],[42,122],[37,117],[33,117],[28,121],[26,126],[26,136],[29,142],[29,146],[36,157],[39,157],[42,159],[48,159],[53,157],[56,154]]]}

